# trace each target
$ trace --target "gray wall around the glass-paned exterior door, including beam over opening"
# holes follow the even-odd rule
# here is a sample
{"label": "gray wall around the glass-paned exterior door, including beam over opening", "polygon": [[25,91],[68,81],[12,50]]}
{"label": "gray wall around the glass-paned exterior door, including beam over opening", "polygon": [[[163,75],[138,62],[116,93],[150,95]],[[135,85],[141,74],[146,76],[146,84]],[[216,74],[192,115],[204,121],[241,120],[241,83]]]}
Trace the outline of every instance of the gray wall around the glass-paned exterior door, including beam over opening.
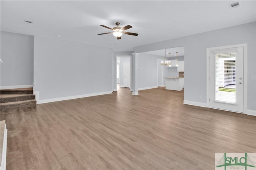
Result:
{"label": "gray wall around the glass-paned exterior door, including beam over opening", "polygon": [[[142,53],[165,48],[185,46],[184,100],[206,103],[206,48],[247,43],[247,109],[256,110],[256,22],[208,31],[195,35],[151,43],[134,48]],[[198,94],[201,98],[198,98]]]}

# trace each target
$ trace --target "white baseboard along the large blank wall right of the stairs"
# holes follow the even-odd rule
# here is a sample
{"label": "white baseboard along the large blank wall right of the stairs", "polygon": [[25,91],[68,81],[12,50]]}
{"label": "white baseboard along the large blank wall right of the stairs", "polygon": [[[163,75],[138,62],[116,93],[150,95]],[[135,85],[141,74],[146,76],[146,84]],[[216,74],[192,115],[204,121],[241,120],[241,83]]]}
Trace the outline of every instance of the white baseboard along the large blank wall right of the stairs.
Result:
{"label": "white baseboard along the large blank wall right of the stairs", "polygon": [[[109,92],[100,92],[100,93],[91,93],[91,94],[82,94],[78,96],[68,96],[68,97],[62,97],[62,98],[53,98],[53,99],[45,99],[45,100],[36,100],[36,104],[43,104],[43,103],[50,103],[50,102],[58,102],[62,100],[72,100],[72,99],[78,99],[78,98],[86,98],[91,96],[99,96],[104,94],[112,94],[112,91]],[[38,92],[39,94],[39,92]]]}

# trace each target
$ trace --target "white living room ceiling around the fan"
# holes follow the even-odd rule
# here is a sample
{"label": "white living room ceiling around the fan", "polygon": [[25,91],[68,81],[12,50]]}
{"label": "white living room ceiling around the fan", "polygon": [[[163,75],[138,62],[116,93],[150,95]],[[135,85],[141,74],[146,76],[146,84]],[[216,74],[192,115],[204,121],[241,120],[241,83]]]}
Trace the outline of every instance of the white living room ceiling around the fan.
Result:
{"label": "white living room ceiling around the fan", "polygon": [[[255,1],[4,1],[1,0],[1,30],[74,41],[114,51],[176,37],[256,21]],[[32,25],[24,23],[32,20]],[[132,25],[117,40],[101,27]],[[60,37],[56,37],[60,35]]]}

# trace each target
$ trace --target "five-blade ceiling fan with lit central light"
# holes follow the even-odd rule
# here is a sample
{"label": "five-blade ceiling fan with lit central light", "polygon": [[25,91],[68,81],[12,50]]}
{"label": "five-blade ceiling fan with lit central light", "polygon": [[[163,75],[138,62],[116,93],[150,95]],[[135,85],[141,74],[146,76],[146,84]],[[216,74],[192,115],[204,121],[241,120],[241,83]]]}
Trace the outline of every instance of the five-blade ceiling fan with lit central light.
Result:
{"label": "five-blade ceiling fan with lit central light", "polygon": [[[129,29],[129,28],[132,28],[131,25],[126,25],[125,27],[119,27],[120,25],[120,22],[116,22],[116,25],[117,27],[114,27],[114,28],[110,28],[110,27],[107,27],[105,25],[100,25],[102,27],[105,27],[105,28],[108,28],[108,29],[111,29],[113,32],[108,32],[108,33],[113,33],[113,35],[117,38],[117,39],[121,39],[121,36],[124,34],[128,34],[128,35],[139,35],[137,33],[129,33],[129,32],[124,32],[124,30],[126,29]],[[103,34],[108,34],[108,33],[101,33],[101,34],[98,34],[98,35],[103,35]]]}

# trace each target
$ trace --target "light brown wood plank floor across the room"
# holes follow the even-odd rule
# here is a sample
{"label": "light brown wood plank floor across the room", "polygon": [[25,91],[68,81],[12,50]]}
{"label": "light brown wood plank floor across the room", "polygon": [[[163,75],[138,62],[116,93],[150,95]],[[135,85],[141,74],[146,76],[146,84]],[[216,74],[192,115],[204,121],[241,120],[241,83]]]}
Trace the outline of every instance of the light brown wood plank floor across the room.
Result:
{"label": "light brown wood plank floor across the room", "polygon": [[215,152],[256,152],[256,117],[184,105],[156,88],[1,112],[7,169],[212,170]]}

